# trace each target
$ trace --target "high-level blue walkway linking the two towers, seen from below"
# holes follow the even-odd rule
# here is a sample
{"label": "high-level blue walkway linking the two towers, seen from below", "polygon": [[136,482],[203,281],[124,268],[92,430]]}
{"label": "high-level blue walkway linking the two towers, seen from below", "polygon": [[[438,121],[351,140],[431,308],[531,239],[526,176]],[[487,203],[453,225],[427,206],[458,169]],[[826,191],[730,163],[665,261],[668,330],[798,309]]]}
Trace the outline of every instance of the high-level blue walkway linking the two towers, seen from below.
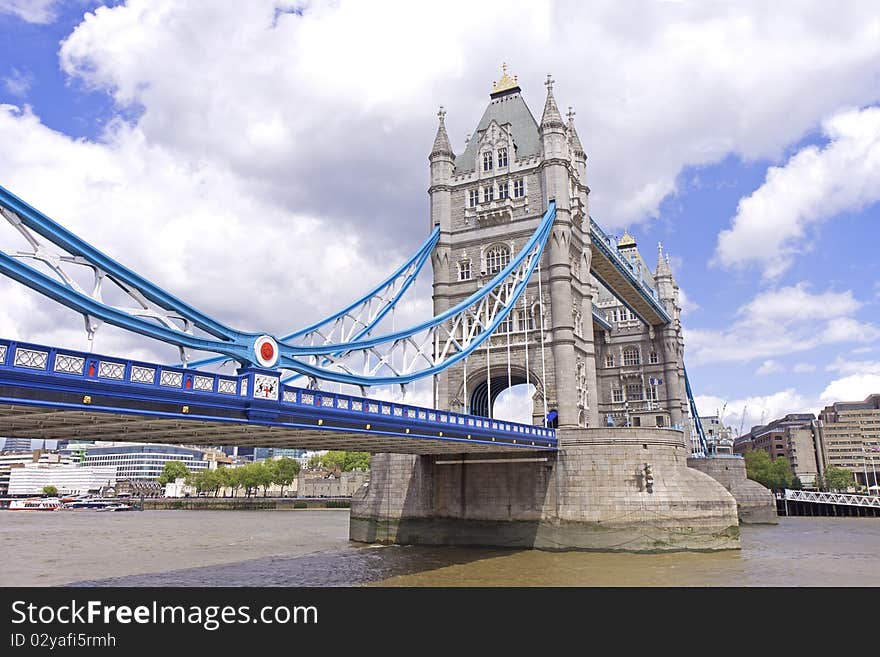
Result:
{"label": "high-level blue walkway linking the two towers, seen from below", "polygon": [[614,240],[590,218],[590,271],[595,278],[649,326],[672,321],[657,290],[641,280],[620,255]]}

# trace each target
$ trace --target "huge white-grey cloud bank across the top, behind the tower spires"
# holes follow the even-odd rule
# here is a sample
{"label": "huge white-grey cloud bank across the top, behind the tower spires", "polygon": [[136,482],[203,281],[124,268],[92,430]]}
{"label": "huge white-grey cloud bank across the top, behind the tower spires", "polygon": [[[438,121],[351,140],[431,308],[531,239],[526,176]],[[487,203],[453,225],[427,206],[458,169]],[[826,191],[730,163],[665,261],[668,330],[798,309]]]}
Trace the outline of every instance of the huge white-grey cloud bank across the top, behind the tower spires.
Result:
{"label": "huge white-grey cloud bank across the top, behind the tower spires", "polygon": [[832,111],[880,98],[870,2],[799,12],[658,3],[633,14],[610,1],[459,0],[431,20],[402,1],[309,4],[277,20],[275,5],[101,8],[64,42],[62,66],[142,106],[150,140],[221,158],[267,191],[303,203],[311,196],[292,184],[300,176],[355,186],[366,176],[378,185],[359,189],[378,187],[373,195],[410,213],[424,211],[417,163],[436,106],[447,105],[461,150],[502,59],[535,113],[552,70],[559,102],[578,110],[593,212],[611,228],[656,213],[685,165],[777,157]]}

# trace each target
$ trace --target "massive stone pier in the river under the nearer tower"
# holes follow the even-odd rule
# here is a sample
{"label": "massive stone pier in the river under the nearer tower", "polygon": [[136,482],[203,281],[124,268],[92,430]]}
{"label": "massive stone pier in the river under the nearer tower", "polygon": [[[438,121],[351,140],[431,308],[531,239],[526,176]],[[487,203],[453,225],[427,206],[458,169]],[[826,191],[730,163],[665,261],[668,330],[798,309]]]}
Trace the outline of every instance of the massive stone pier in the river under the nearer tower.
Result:
{"label": "massive stone pier in the river under the nearer tower", "polygon": [[350,538],[404,545],[738,549],[733,495],[687,466],[681,431],[562,429],[556,454],[377,454]]}

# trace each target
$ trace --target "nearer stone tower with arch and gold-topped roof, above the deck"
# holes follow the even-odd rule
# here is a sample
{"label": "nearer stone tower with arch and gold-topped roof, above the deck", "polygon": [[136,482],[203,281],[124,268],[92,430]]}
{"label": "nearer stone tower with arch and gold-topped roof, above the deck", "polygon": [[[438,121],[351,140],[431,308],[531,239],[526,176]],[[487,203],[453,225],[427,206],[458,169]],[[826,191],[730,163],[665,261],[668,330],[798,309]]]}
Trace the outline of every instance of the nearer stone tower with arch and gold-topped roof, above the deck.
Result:
{"label": "nearer stone tower with arch and gold-topped roof, above the deck", "polygon": [[435,392],[440,408],[487,416],[504,389],[532,383],[535,423],[543,423],[546,394],[546,411],[558,414],[553,425],[598,426],[587,158],[574,113],[563,119],[550,76],[545,84],[539,123],[505,67],[460,155],[440,110],[428,190],[430,228],[441,230],[433,254],[435,314],[491,280],[534,233],[551,199],[556,221],[540,274],[513,317],[488,350],[439,375]]}

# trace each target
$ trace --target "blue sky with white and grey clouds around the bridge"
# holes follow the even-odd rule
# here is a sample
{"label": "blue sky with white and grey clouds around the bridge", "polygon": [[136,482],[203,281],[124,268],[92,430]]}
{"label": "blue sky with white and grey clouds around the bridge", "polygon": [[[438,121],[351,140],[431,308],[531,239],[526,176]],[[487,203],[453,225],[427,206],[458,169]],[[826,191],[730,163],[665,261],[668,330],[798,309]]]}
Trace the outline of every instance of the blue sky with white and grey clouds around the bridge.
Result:
{"label": "blue sky with white and grey clouds around the bridge", "polygon": [[[703,413],[726,402],[748,426],[880,392],[876,4],[504,7],[451,2],[426,25],[393,2],[0,0],[0,184],[197,306],[283,332],[421,242],[438,105],[460,152],[502,60],[536,115],[551,70],[594,217],[672,256]],[[0,294],[0,334],[83,346],[75,317]]]}

